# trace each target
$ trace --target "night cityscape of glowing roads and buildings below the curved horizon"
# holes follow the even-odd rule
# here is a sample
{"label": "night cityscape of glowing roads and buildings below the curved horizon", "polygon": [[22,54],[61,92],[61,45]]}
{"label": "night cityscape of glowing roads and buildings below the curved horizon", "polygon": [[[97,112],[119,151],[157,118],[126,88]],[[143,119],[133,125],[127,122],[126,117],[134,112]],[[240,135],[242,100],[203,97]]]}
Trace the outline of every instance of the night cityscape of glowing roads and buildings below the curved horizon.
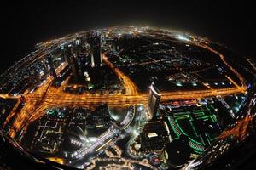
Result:
{"label": "night cityscape of glowing roads and buildings below the curved horizon", "polygon": [[0,76],[1,150],[56,169],[228,169],[256,122],[256,62],[234,56],[149,26],[39,42]]}

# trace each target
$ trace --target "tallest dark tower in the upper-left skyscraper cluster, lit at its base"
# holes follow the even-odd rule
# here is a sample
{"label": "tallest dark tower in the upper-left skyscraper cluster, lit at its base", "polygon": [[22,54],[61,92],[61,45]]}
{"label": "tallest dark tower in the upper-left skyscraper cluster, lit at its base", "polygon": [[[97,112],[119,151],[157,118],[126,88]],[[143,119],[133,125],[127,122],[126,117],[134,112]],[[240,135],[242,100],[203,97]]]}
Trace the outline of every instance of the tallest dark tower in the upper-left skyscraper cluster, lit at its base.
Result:
{"label": "tallest dark tower in the upper-left skyscraper cluster, lit at its base", "polygon": [[101,37],[99,35],[87,34],[88,43],[90,44],[90,62],[92,67],[102,65]]}

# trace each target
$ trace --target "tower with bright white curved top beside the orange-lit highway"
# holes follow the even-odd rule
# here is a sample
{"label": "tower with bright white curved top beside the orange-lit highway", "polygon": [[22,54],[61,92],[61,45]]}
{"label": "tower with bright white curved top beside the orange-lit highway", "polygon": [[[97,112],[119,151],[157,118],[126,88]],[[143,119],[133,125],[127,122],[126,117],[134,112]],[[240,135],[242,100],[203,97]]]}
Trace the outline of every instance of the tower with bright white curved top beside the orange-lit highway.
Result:
{"label": "tower with bright white curved top beside the orange-lit highway", "polygon": [[149,99],[148,99],[148,113],[152,118],[156,117],[161,94],[158,88],[155,87],[154,82],[149,87]]}

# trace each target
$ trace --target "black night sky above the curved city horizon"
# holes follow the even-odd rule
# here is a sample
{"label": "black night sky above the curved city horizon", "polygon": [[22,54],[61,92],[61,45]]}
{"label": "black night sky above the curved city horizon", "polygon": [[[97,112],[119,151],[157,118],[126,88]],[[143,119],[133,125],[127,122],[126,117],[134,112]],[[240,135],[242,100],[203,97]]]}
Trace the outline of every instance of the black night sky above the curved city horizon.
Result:
{"label": "black night sky above the curved city horizon", "polygon": [[27,1],[1,6],[0,72],[31,52],[37,42],[119,25],[189,31],[224,43],[243,56],[256,56],[256,14],[253,3],[245,1]]}

